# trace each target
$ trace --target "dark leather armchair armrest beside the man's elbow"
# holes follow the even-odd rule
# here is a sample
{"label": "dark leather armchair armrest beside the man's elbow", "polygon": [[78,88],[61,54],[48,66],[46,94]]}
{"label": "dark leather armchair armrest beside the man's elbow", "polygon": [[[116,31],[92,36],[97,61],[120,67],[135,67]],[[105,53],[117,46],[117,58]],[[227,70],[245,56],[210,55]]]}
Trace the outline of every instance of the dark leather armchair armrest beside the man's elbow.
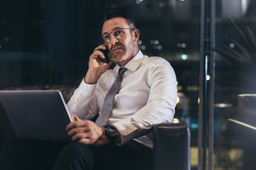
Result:
{"label": "dark leather armchair armrest beside the man's elbow", "polygon": [[155,125],[154,169],[191,169],[190,130],[183,120]]}

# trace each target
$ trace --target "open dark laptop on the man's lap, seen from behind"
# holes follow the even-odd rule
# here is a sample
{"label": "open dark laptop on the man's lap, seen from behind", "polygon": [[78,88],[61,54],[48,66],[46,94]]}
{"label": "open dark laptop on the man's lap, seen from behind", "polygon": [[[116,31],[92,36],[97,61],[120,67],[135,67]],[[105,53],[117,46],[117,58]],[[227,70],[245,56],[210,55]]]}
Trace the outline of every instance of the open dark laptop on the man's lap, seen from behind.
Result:
{"label": "open dark laptop on the man's lap, seen from behind", "polygon": [[72,122],[60,91],[0,91],[0,139],[68,142]]}

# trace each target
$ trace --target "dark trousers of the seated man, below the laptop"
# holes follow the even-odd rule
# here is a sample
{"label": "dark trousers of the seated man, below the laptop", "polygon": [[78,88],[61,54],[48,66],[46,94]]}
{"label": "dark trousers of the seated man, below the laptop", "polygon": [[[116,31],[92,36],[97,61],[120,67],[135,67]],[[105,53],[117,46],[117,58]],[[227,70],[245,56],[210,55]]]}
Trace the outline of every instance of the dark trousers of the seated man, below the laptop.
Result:
{"label": "dark trousers of the seated man, below the laptop", "polygon": [[1,148],[0,169],[150,170],[153,151],[135,141],[91,147],[78,142],[10,140]]}

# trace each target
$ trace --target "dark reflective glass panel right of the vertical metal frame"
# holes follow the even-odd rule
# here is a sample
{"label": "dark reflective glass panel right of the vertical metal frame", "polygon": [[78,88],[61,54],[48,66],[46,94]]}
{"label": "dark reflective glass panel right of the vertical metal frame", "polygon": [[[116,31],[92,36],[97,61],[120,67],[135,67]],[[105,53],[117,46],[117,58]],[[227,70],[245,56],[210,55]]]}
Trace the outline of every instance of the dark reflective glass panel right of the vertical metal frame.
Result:
{"label": "dark reflective glass panel right of the vertical metal frame", "polygon": [[214,169],[218,170],[255,167],[255,8],[255,0],[216,1]]}

